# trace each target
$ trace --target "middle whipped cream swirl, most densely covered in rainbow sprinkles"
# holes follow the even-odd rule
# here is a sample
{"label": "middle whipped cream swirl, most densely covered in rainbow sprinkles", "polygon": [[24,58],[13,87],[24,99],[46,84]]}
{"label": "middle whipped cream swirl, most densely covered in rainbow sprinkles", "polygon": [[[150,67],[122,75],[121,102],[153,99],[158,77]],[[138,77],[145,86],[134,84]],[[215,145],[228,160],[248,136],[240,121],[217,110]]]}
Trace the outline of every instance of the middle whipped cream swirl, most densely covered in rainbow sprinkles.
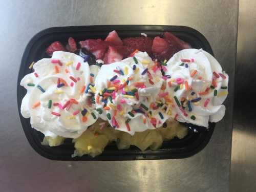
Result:
{"label": "middle whipped cream swirl, most densely covered in rainbow sprinkles", "polygon": [[94,87],[99,117],[131,135],[162,126],[169,115],[159,97],[161,77],[159,63],[146,52],[103,65]]}

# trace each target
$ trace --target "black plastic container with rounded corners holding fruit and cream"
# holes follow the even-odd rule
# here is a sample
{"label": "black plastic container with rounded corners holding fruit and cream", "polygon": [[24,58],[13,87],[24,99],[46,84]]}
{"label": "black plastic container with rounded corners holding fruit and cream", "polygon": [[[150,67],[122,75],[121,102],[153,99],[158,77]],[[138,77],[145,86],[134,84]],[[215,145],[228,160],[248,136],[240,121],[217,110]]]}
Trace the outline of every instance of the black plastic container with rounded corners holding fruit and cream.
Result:
{"label": "black plastic container with rounded corners holding fruit and cream", "polygon": [[[26,94],[26,90],[19,86],[20,80],[31,70],[28,68],[32,61],[37,61],[47,57],[46,48],[53,41],[61,41],[63,45],[67,44],[68,38],[73,37],[76,41],[88,38],[105,38],[112,30],[116,30],[121,38],[141,36],[140,33],[146,33],[147,36],[158,36],[165,31],[170,31],[180,39],[188,42],[192,48],[207,51],[212,54],[212,49],[207,39],[195,29],[184,26],[151,26],[151,25],[116,25],[116,26],[76,26],[76,27],[55,27],[43,30],[37,33],[27,45],[23,54],[22,63],[20,65],[18,82],[17,82],[17,102],[20,121],[26,137],[34,148],[34,150],[48,159],[53,160],[145,160],[145,159],[177,159],[186,158],[195,155],[201,151],[209,142],[215,123],[209,123],[209,129],[200,129],[195,125],[190,126],[189,134],[184,139],[173,139],[164,141],[162,147],[157,151],[146,150],[141,152],[137,147],[131,146],[129,150],[118,150],[115,143],[111,143],[105,147],[104,152],[92,158],[84,155],[82,157],[71,158],[74,152],[74,144],[71,139],[67,139],[65,143],[57,147],[49,147],[41,145],[44,138],[40,132],[31,128],[30,119],[25,119],[20,114],[20,105],[22,98]],[[194,128],[199,132],[195,133]],[[201,127],[202,128],[202,127]]]}

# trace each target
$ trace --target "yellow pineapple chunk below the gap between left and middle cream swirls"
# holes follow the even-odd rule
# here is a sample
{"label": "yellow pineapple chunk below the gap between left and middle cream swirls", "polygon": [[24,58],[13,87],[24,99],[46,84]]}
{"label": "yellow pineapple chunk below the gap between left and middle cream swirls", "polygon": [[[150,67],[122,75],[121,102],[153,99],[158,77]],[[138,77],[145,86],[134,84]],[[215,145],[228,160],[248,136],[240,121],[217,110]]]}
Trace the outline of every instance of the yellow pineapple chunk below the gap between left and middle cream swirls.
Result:
{"label": "yellow pineapple chunk below the gap between left and middle cream swirls", "polygon": [[90,130],[83,132],[83,134],[74,139],[75,142],[75,152],[74,156],[90,155],[95,157],[100,155],[105,146],[109,143],[109,139],[105,135],[98,135]]}

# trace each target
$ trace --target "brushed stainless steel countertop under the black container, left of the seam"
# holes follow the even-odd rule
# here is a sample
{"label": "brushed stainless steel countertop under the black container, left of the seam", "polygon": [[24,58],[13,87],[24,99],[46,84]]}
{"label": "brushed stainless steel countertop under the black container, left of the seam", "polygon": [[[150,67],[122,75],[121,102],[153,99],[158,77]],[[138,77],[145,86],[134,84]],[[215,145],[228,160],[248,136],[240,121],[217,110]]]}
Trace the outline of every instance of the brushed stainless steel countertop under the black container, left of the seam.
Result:
{"label": "brushed stainless steel countertop under the black container, left of the seam", "polygon": [[233,82],[238,1],[1,1],[0,65],[2,191],[228,191],[232,95],[225,118],[199,154],[177,160],[61,162],[29,145],[16,104],[23,51],[38,31],[75,25],[184,25],[200,31]]}

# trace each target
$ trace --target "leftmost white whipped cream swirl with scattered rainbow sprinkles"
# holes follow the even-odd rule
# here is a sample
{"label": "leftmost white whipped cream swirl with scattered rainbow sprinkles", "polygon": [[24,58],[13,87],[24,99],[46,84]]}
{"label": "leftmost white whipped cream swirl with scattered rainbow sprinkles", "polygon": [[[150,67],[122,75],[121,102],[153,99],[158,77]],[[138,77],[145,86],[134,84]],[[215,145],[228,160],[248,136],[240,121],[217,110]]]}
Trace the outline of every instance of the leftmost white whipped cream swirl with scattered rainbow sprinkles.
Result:
{"label": "leftmost white whipped cream swirl with scattered rainbow sprinkles", "polygon": [[[55,62],[59,60],[62,66],[52,63],[53,60]],[[78,63],[80,63],[80,67],[77,66]],[[97,73],[98,67],[91,68],[93,73]],[[92,72],[88,62],[83,62],[83,58],[76,54],[57,51],[53,53],[52,58],[37,61],[33,69],[34,72],[26,75],[20,82],[20,85],[27,89],[27,94],[22,100],[22,115],[25,118],[30,117],[31,126],[45,136],[56,137],[59,135],[68,138],[80,136],[98,117],[93,105],[92,107],[87,105],[88,99],[90,99],[89,94],[81,92],[83,86],[87,87],[90,83],[90,73]],[[94,75],[96,77],[97,74]],[[76,82],[70,76],[75,78]],[[93,77],[93,81],[95,77]],[[58,88],[58,79],[60,84],[64,81],[67,84]],[[31,84],[28,86],[29,83],[32,86]],[[40,86],[43,91],[37,86]],[[73,100],[72,104],[70,103],[65,109],[62,109],[70,99],[75,99],[75,101]],[[52,101],[50,109],[49,100]],[[38,102],[40,105],[37,104],[38,106],[33,108]],[[56,105],[57,103],[60,105]],[[86,121],[82,121],[81,110],[84,109],[88,111]],[[53,115],[52,112],[60,116]],[[91,112],[95,114],[96,119]]]}

